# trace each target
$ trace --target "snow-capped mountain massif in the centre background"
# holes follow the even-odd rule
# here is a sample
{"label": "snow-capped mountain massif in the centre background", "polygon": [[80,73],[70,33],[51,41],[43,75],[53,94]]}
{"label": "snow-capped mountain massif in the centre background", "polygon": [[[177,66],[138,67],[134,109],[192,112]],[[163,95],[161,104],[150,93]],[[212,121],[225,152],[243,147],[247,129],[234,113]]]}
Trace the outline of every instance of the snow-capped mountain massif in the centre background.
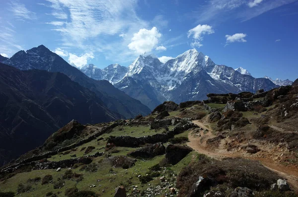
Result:
{"label": "snow-capped mountain massif in the centre background", "polygon": [[93,65],[81,69],[94,79],[106,79],[153,109],[166,100],[176,103],[206,99],[208,93],[255,92],[277,87],[266,78],[254,78],[243,69],[217,65],[195,49],[161,63],[155,55],[140,55],[130,66]]}

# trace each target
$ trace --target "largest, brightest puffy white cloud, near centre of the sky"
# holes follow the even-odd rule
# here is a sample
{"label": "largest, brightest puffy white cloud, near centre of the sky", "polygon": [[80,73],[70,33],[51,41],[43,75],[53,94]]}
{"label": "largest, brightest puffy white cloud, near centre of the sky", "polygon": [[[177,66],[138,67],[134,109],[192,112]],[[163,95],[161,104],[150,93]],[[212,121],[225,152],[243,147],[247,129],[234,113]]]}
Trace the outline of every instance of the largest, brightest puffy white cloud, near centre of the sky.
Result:
{"label": "largest, brightest puffy white cloud, near centre of the sky", "polygon": [[152,29],[140,29],[138,33],[134,34],[132,42],[128,45],[128,48],[138,54],[144,54],[150,52],[158,44],[158,39],[161,34],[156,27]]}

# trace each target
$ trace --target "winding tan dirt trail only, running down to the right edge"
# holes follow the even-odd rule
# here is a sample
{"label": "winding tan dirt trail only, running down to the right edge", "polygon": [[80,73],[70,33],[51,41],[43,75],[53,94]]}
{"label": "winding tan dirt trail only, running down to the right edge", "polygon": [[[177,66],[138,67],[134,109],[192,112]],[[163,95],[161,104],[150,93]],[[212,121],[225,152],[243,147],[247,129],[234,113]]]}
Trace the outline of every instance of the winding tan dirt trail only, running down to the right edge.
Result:
{"label": "winding tan dirt trail only, running down to the right edge", "polygon": [[[198,125],[200,128],[203,128],[204,130],[208,129],[209,131],[212,131],[211,128],[206,127],[206,125],[199,121],[193,121],[194,124]],[[188,138],[189,142],[187,143],[188,146],[192,147],[195,151],[206,154],[212,158],[215,159],[222,159],[224,157],[237,157],[237,158],[245,158],[245,159],[251,159],[260,161],[263,166],[266,168],[276,172],[281,177],[286,179],[288,183],[291,185],[291,188],[298,193],[298,168],[297,167],[286,167],[283,165],[279,165],[278,163],[275,163],[271,159],[266,158],[260,158],[260,157],[246,157],[245,155],[237,152],[229,152],[226,153],[226,151],[218,149],[218,150],[210,150],[206,147],[206,140],[208,138],[215,137],[215,135],[212,134],[212,132],[205,133],[203,135],[203,132],[201,132],[202,138],[196,136],[195,134],[189,132]]]}

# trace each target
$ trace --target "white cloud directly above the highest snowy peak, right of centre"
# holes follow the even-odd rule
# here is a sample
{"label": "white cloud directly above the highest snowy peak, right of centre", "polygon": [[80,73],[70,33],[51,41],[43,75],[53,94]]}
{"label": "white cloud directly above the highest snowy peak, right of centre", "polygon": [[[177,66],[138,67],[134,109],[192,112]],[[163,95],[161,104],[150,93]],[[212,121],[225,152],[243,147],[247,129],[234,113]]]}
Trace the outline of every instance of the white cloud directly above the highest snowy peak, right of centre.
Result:
{"label": "white cloud directly above the highest snowy peak, right of centre", "polygon": [[213,34],[214,30],[212,29],[212,26],[209,25],[198,25],[188,31],[187,37],[193,37],[194,42],[192,42],[190,45],[192,47],[200,48],[203,45],[200,43],[200,41],[203,40],[203,35],[205,34]]}

